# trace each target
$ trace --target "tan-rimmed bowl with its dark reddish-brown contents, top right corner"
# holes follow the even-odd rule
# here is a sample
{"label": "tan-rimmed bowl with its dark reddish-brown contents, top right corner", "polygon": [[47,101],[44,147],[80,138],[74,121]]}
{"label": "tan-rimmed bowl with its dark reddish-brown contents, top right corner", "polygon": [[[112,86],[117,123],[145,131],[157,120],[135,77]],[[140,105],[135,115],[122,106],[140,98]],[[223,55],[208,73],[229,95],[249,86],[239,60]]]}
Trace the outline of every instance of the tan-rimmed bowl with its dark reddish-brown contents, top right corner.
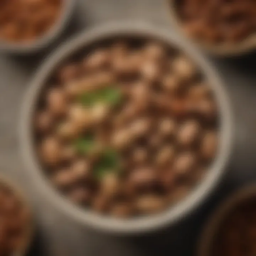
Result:
{"label": "tan-rimmed bowl with its dark reddish-brown contents, top right corner", "polygon": [[232,56],[256,48],[255,1],[167,1],[172,23],[207,52]]}

